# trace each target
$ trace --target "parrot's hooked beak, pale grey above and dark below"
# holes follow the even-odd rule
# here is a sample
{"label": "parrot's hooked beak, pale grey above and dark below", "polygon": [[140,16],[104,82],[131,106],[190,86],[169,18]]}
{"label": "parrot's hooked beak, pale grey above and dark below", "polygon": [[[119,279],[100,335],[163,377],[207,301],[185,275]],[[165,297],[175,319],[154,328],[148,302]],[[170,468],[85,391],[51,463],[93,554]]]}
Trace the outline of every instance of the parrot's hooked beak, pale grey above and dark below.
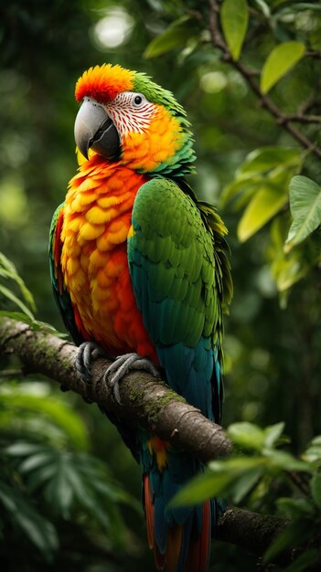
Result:
{"label": "parrot's hooked beak, pale grey above and dark below", "polygon": [[90,148],[108,159],[119,158],[118,132],[107,111],[91,98],[85,98],[78,111],[75,121],[75,141],[80,153],[86,159]]}

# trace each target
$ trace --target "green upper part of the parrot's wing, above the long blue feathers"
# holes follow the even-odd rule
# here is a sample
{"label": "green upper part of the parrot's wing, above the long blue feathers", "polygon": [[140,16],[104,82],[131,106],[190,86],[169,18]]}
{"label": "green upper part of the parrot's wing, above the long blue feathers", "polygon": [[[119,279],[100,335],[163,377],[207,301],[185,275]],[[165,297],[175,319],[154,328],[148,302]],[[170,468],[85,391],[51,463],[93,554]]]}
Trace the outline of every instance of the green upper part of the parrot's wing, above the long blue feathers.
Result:
{"label": "green upper part of the parrot's wing, above the long blue feathers", "polygon": [[[133,225],[129,264],[154,343],[193,347],[201,336],[215,342],[232,290],[226,229],[216,211],[198,206],[174,181],[155,178],[136,196]],[[166,323],[157,318],[157,302]]]}

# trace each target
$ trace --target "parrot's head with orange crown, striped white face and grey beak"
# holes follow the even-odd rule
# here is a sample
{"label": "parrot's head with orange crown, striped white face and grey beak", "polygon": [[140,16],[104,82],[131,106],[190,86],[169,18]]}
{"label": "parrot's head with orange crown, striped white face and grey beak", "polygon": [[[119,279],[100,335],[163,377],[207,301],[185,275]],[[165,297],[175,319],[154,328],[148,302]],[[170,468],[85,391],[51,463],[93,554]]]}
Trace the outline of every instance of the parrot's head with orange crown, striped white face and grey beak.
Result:
{"label": "parrot's head with orange crown, striped white face and grey beak", "polygon": [[86,159],[94,152],[141,173],[193,172],[186,112],[144,73],[111,64],[88,69],[76,84],[76,99],[75,139]]}

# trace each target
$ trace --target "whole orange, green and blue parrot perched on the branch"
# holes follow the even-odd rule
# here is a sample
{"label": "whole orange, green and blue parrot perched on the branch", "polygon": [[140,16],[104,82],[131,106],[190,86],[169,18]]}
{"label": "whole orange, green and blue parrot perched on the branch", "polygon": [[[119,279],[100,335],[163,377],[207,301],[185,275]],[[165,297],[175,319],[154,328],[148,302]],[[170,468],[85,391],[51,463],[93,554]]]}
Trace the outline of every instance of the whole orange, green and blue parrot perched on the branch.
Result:
{"label": "whole orange, green and blue parrot perched on the branch", "polygon": [[[219,423],[222,314],[232,294],[227,230],[185,180],[195,161],[186,112],[144,73],[110,64],[83,73],[76,99],[80,168],[50,230],[64,323],[76,344],[121,355],[106,377],[115,397],[123,373],[147,363]],[[167,506],[203,464],[157,435],[112,421],[143,468],[155,566],[204,572],[216,502]]]}

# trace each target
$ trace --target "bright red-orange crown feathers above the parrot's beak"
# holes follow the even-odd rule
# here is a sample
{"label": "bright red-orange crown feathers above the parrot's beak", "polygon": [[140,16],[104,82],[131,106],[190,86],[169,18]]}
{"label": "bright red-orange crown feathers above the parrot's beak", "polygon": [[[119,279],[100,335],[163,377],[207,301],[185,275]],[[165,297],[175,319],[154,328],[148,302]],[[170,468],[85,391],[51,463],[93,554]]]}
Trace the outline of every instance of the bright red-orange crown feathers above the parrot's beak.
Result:
{"label": "bright red-orange crown feathers above the parrot's beak", "polygon": [[91,97],[100,103],[107,103],[122,91],[133,90],[134,71],[122,66],[103,64],[85,71],[76,83],[75,97],[82,101]]}

